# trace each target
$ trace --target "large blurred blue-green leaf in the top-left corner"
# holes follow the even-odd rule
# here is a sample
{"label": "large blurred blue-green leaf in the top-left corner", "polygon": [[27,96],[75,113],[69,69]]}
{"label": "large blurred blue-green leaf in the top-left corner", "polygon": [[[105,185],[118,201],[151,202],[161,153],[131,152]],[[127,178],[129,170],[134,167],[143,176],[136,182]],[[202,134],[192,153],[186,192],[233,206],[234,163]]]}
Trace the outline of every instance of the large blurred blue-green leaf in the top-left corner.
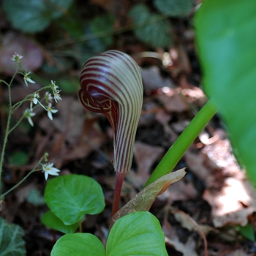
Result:
{"label": "large blurred blue-green leaf in the top-left corner", "polygon": [[72,1],[4,0],[3,8],[15,29],[35,33],[46,29],[52,20],[64,15]]}

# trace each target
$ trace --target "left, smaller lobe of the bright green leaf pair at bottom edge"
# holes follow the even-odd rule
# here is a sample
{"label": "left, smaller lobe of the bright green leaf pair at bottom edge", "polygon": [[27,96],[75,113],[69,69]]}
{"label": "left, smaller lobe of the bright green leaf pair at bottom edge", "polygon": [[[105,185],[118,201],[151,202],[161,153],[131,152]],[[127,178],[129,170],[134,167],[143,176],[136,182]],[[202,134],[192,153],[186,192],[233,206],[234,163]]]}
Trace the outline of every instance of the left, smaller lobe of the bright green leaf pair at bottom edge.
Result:
{"label": "left, smaller lobe of the bright green leaf pair at bottom edge", "polygon": [[75,233],[61,236],[50,256],[105,256],[105,248],[99,238],[89,233]]}

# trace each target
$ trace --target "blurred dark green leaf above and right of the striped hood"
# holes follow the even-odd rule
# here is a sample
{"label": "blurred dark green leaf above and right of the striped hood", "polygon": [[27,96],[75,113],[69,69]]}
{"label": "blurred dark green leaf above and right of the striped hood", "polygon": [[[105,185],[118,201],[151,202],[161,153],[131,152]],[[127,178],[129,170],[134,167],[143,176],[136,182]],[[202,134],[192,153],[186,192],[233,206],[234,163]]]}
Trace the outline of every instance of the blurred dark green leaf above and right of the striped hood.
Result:
{"label": "blurred dark green leaf above and right of the striped hood", "polygon": [[135,35],[154,47],[167,47],[171,43],[172,27],[161,15],[151,13],[145,4],[136,4],[129,12],[135,26]]}

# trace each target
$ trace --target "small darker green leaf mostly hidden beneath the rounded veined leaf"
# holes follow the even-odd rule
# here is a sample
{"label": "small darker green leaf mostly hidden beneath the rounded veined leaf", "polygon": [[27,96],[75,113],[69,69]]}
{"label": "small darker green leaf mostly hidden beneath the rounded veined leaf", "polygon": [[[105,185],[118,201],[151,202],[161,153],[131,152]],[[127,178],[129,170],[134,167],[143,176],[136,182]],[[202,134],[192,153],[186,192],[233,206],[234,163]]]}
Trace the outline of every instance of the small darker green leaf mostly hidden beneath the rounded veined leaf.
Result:
{"label": "small darker green leaf mostly hidden beneath the rounded veined leaf", "polygon": [[72,225],[64,225],[61,219],[56,217],[51,211],[42,214],[41,221],[45,226],[61,231],[62,233],[75,233],[75,230],[77,230],[79,226],[79,222]]}

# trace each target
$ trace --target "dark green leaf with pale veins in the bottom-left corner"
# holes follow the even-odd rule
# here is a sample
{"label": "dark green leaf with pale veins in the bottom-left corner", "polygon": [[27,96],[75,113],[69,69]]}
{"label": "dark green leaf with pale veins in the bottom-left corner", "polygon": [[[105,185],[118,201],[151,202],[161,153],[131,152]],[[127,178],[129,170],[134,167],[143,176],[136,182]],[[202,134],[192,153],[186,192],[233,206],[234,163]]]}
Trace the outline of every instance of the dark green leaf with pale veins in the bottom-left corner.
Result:
{"label": "dark green leaf with pale veins in the bottom-left corner", "polygon": [[15,224],[8,225],[0,217],[0,255],[4,256],[25,256],[25,242],[22,237],[23,229]]}

